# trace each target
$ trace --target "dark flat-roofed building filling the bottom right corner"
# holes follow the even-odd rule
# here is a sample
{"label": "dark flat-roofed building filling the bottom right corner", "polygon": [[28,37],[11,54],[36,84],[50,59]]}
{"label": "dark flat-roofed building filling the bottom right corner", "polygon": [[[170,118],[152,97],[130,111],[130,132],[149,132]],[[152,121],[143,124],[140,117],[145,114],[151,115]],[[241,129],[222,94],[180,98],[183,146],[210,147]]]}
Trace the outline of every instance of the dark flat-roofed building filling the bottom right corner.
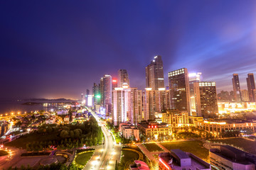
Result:
{"label": "dark flat-roofed building filling the bottom right corner", "polygon": [[229,145],[210,149],[210,164],[214,169],[255,170],[255,155]]}

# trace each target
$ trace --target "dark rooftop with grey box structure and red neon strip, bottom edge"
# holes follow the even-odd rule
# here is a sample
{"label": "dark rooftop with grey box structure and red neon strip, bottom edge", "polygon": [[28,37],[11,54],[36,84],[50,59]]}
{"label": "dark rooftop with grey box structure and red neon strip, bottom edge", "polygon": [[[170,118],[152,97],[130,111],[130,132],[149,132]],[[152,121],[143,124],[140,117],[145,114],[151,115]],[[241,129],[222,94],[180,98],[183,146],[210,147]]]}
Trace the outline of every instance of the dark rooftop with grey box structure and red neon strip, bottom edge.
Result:
{"label": "dark rooftop with grey box structure and red neon strip, bottom edge", "polygon": [[181,149],[159,154],[159,170],[210,170],[210,164]]}

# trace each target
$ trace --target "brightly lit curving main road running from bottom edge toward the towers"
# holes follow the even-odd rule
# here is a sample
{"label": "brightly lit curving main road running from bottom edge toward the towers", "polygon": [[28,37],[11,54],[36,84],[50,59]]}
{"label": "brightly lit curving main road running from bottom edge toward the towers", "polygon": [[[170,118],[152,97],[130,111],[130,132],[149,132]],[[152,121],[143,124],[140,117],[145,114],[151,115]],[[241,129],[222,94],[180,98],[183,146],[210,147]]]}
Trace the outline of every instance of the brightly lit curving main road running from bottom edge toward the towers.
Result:
{"label": "brightly lit curving main road running from bottom edge toward the towers", "polygon": [[121,154],[121,147],[115,145],[112,135],[107,130],[105,122],[97,118],[97,115],[88,109],[90,113],[96,118],[98,124],[102,128],[105,137],[105,144],[95,147],[95,154],[90,159],[90,162],[85,166],[85,169],[114,169],[116,160],[119,161]]}

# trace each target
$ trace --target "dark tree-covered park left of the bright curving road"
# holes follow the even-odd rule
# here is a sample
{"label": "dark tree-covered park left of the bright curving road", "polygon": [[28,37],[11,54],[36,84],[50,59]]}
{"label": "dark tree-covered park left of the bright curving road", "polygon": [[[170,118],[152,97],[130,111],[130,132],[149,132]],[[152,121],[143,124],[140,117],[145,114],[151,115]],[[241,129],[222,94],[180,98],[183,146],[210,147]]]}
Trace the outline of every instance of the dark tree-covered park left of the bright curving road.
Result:
{"label": "dark tree-covered park left of the bright curving road", "polygon": [[38,130],[23,135],[7,145],[23,147],[28,151],[48,149],[73,149],[75,147],[101,145],[103,133],[95,118],[91,117],[84,123],[68,125],[43,124]]}

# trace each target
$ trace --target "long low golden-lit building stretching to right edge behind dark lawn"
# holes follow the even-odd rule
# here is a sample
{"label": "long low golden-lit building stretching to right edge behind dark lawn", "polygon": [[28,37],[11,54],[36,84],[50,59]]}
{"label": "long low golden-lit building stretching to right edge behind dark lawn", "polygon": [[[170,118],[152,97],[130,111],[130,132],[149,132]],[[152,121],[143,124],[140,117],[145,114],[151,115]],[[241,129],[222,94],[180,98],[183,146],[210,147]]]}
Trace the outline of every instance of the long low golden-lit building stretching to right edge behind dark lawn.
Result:
{"label": "long low golden-lit building stretching to right edge behind dark lawn", "polygon": [[215,119],[215,120],[203,120],[195,121],[196,128],[201,130],[206,130],[214,135],[220,135],[221,132],[234,131],[234,130],[244,130],[252,129],[256,130],[256,122],[250,122],[245,120],[235,120],[235,119]]}

